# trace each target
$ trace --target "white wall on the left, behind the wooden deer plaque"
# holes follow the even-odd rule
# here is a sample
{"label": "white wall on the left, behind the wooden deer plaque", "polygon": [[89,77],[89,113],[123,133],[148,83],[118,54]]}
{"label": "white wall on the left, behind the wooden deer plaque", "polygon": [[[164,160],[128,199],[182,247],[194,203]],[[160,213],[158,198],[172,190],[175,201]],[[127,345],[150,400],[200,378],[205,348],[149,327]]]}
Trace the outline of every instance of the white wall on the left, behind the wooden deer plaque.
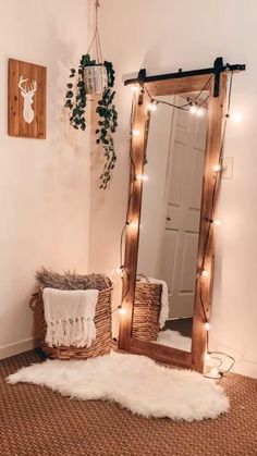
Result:
{"label": "white wall on the left, behind the wooden deer plaque", "polygon": [[[34,272],[87,271],[89,134],[64,110],[69,69],[87,50],[87,0],[1,0],[0,357],[33,346]],[[8,58],[47,66],[47,139],[8,136]]]}

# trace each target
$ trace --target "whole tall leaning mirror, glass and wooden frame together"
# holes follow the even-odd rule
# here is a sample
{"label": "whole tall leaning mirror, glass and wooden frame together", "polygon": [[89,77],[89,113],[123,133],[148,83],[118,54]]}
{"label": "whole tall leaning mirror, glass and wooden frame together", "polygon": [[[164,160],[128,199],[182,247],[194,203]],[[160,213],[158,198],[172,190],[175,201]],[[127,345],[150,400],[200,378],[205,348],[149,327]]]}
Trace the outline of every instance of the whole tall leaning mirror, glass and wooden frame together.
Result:
{"label": "whole tall leaning mirror, glass and wooden frame together", "polygon": [[136,81],[119,347],[203,371],[227,74],[196,73]]}

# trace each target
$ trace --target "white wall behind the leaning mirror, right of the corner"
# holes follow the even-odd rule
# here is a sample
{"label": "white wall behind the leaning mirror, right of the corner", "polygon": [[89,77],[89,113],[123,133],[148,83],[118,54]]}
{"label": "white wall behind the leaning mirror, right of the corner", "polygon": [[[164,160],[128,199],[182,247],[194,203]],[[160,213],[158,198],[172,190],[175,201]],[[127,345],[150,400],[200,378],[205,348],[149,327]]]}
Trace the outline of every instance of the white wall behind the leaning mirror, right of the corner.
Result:
{"label": "white wall behind the leaning mirror, right of the corner", "polygon": [[256,375],[257,273],[257,40],[256,0],[102,0],[103,53],[117,69],[118,167],[109,192],[95,183],[89,267],[119,264],[128,182],[131,91],[122,79],[146,67],[148,74],[211,66],[217,56],[246,63],[234,76],[232,109],[243,112],[228,127],[225,153],[234,157],[234,177],[224,181],[219,215],[211,348],[236,357],[235,370]]}

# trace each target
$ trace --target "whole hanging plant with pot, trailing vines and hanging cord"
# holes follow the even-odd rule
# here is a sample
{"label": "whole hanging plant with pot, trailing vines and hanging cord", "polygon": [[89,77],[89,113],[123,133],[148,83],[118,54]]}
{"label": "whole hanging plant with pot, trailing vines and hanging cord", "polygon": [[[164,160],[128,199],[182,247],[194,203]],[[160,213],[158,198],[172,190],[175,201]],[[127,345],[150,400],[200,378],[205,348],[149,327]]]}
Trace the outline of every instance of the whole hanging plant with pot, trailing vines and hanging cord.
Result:
{"label": "whole hanging plant with pot, trailing vines and hanging cord", "polygon": [[100,175],[100,188],[107,188],[111,178],[111,171],[117,162],[113,133],[118,126],[118,112],[113,104],[115,91],[114,70],[111,62],[103,61],[101,56],[100,39],[97,27],[97,9],[99,2],[96,1],[96,27],[89,47],[96,45],[96,59],[90,53],[82,56],[78,69],[71,69],[70,82],[66,87],[65,107],[70,110],[70,124],[75,130],[86,130],[86,104],[88,95],[101,94],[98,100],[96,112],[99,116],[98,128],[96,130],[96,143],[101,145],[105,150],[105,165]]}

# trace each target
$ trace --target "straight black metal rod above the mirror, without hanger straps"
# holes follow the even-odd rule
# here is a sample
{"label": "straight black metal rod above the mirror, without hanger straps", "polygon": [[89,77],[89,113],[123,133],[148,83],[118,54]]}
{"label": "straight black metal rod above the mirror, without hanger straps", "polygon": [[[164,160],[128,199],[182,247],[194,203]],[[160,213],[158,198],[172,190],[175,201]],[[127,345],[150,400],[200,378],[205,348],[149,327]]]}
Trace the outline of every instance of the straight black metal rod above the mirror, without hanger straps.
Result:
{"label": "straight black metal rod above the mirror, without hanger straps", "polygon": [[[219,58],[218,58],[219,59]],[[217,74],[217,72],[222,73],[224,71],[233,71],[233,72],[240,72],[245,71],[245,64],[235,63],[233,65],[230,65],[227,63],[225,65],[219,66],[212,66],[211,69],[201,69],[201,70],[191,70],[191,71],[182,71],[179,70],[176,73],[168,73],[168,74],[157,74],[154,76],[145,76],[142,77],[143,72],[145,70],[140,70],[140,74],[138,74],[138,77],[135,77],[133,79],[126,79],[124,82],[124,85],[127,86],[130,84],[142,84],[142,83],[154,83],[156,81],[164,81],[164,79],[179,79],[181,77],[188,77],[188,76],[198,76],[201,74]]]}

